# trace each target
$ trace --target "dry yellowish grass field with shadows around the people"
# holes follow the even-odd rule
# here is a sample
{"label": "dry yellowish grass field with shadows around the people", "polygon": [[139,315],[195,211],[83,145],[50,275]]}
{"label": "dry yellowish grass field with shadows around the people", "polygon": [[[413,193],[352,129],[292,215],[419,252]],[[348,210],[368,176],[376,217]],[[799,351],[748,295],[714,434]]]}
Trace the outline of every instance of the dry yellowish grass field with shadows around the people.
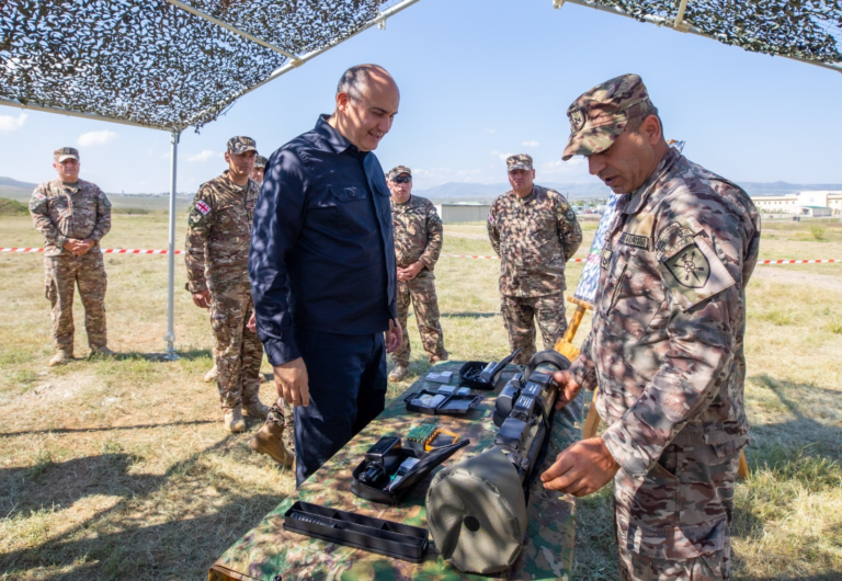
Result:
{"label": "dry yellowish grass field with shadows around the people", "polygon": [[[177,246],[186,219],[179,216]],[[587,226],[585,242],[595,224]],[[842,259],[842,228],[772,224],[761,258]],[[105,246],[166,248],[166,216],[114,215]],[[26,216],[0,216],[0,246],[42,246]],[[445,228],[445,253],[490,254],[479,225]],[[213,561],[294,487],[223,431],[206,314],[178,260],[175,333],[163,363],[167,259],[107,255],[110,345],[118,361],[48,368],[38,254],[0,254],[0,579],[203,579]],[[508,343],[497,261],[436,269],[447,349],[498,358]],[[571,264],[574,288],[581,267]],[[746,399],[751,477],[737,487],[735,578],[842,579],[842,265],[759,266],[749,286]],[[77,356],[87,354],[77,299]],[[579,341],[590,326],[585,318]],[[428,365],[410,318],[411,376]],[[579,342],[577,341],[577,342]],[[269,366],[264,364],[264,371]],[[273,399],[264,384],[262,399]],[[258,429],[255,422],[249,430]],[[576,579],[616,579],[611,491],[580,501]]]}

